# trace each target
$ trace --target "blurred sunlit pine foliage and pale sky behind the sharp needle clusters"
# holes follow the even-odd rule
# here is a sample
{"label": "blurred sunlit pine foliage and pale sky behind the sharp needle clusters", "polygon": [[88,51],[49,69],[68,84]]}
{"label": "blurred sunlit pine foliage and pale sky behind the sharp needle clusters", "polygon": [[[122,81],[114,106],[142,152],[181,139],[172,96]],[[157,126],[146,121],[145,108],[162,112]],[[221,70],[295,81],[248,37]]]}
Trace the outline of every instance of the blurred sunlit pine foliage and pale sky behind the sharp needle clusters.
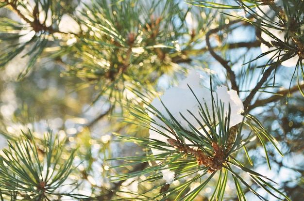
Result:
{"label": "blurred sunlit pine foliage and pale sky behind the sharp needle clusters", "polygon": [[[282,1],[285,6],[304,6],[301,0]],[[260,16],[254,8],[271,4],[271,0],[215,2],[218,4],[203,0],[0,0],[1,146],[7,147],[5,139],[23,135],[20,129],[24,135],[34,136],[37,147],[44,146],[44,132],[58,133],[68,147],[63,152],[77,148],[68,179],[77,181],[75,195],[104,201],[129,195],[123,192],[141,194],[163,181],[140,184],[147,175],[139,175],[111,182],[109,176],[148,166],[110,169],[123,161],[108,159],[148,152],[132,142],[115,141],[113,133],[148,137],[148,129],[123,122],[137,121],[128,109],[142,106],[142,100],[151,100],[185,78],[189,69],[197,69],[205,87],[212,77],[213,86],[224,84],[247,100],[248,112],[278,140],[285,155],[281,158],[269,147],[270,171],[261,144],[251,143],[248,150],[254,170],[269,174],[292,201],[301,201],[301,59],[288,68],[280,65],[282,61],[269,64],[262,53],[256,22]],[[296,38],[304,41],[303,13],[294,6],[288,8],[295,9],[287,15],[297,16],[301,27]],[[291,52],[296,48],[278,47]],[[294,55],[287,56],[285,59]],[[268,69],[268,77],[256,89]],[[246,156],[240,153],[238,157]],[[208,199],[211,188],[203,189],[195,200]],[[158,192],[150,193],[147,196]],[[237,200],[233,188],[229,196],[226,200]]]}

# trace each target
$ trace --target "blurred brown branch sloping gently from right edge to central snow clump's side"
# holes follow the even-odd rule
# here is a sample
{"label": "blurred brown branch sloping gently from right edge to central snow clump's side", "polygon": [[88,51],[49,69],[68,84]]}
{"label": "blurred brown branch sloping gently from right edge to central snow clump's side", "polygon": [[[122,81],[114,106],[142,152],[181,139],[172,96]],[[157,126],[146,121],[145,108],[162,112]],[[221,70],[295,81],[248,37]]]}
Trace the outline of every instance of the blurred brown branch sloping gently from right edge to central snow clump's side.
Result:
{"label": "blurred brown branch sloping gently from right edge to central snow clump's side", "polygon": [[[300,87],[301,87],[301,89],[304,89],[304,84],[301,84]],[[266,99],[255,101],[253,105],[248,107],[248,110],[251,110],[251,109],[259,107],[259,106],[264,106],[268,103],[276,102],[278,100],[285,98],[287,94],[298,92],[298,91],[299,91],[299,86],[293,86],[290,89],[284,89],[284,90],[278,91],[278,92],[276,92],[276,95],[270,96],[269,98],[266,98]]]}

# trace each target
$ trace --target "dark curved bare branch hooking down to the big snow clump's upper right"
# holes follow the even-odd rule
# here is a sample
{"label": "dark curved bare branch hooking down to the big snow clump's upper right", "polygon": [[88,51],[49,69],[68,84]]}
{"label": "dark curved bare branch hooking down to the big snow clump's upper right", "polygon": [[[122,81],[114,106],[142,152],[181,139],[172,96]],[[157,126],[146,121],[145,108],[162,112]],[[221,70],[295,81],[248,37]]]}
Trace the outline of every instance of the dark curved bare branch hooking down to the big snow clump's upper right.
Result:
{"label": "dark curved bare branch hooking down to the big snow clump's upper right", "polygon": [[218,31],[220,31],[222,29],[230,27],[231,25],[236,24],[238,22],[241,22],[241,20],[231,21],[230,23],[228,23],[228,24],[226,24],[224,26],[221,26],[221,27],[218,27],[216,29],[210,30],[210,31],[208,31],[206,33],[206,45],[208,47],[208,50],[209,50],[210,54],[213,56],[214,59],[216,59],[218,62],[220,62],[220,64],[226,69],[227,75],[228,75],[228,77],[229,77],[229,79],[231,81],[232,89],[236,90],[237,93],[239,92],[239,89],[238,89],[238,86],[236,84],[236,75],[233,72],[233,70],[231,69],[231,67],[228,65],[229,61],[224,60],[223,58],[221,58],[219,55],[217,55],[215,53],[213,47],[210,44],[210,35],[213,34],[213,33],[218,32]]}

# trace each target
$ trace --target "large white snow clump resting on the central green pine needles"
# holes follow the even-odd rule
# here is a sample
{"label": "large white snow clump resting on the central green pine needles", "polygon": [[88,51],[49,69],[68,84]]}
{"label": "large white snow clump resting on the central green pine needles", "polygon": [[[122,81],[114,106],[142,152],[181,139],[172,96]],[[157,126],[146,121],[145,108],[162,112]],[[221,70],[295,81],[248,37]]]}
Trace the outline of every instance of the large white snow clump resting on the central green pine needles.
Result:
{"label": "large white snow clump resting on the central green pine needles", "polygon": [[[201,129],[201,124],[204,124],[203,118],[201,117],[202,113],[200,111],[201,106],[203,107],[204,111],[208,111],[210,116],[212,117],[215,115],[216,123],[218,123],[218,117],[217,114],[213,114],[212,111],[212,96],[211,92],[208,89],[203,88],[203,86],[200,85],[200,82],[202,81],[201,75],[195,71],[192,70],[189,72],[188,77],[181,81],[180,84],[177,87],[172,87],[169,90],[167,90],[162,96],[156,97],[151,105],[156,108],[166,120],[168,120],[170,123],[174,123],[172,119],[170,118],[169,113],[175,118],[175,120],[186,130],[191,131],[190,125],[187,123],[187,121],[192,124],[196,129]],[[191,88],[191,91],[189,87]],[[244,111],[244,107],[242,104],[242,101],[238,97],[236,91],[231,90],[228,91],[228,88],[226,86],[219,86],[217,88],[217,93],[213,92],[214,99],[220,104],[220,102],[224,105],[224,114],[226,116],[228,115],[229,111],[229,104],[231,107],[231,115],[230,115],[230,123],[229,127],[232,127],[236,124],[239,124],[243,120],[243,116],[241,113]],[[162,102],[161,102],[162,101]],[[169,110],[169,113],[166,111],[164,105]],[[199,122],[195,119],[193,115],[190,114],[190,112],[199,120]],[[169,131],[165,130],[162,127],[167,128],[169,127],[161,120],[159,119],[153,112],[148,111],[149,117],[152,118],[151,122],[151,129],[150,129],[150,139],[157,139],[163,142],[167,143],[167,139],[172,138],[175,139],[175,136],[173,136]],[[182,115],[184,118],[182,117]],[[211,124],[213,121],[209,120],[209,123]],[[205,126],[205,125],[204,125]],[[203,129],[201,129],[203,130]],[[202,131],[203,132],[203,131]],[[162,135],[161,133],[167,135]],[[187,144],[191,144],[190,141],[185,140]],[[166,147],[168,150],[173,150],[175,148],[168,145]],[[161,153],[164,153],[162,150],[152,149],[153,155],[158,155]]]}

